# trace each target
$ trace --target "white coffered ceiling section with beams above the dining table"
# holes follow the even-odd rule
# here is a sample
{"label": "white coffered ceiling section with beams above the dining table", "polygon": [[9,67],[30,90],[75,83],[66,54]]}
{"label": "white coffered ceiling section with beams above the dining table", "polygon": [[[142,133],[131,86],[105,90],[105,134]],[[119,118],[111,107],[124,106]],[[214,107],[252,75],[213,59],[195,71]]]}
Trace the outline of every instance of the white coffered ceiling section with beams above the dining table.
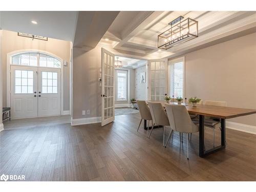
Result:
{"label": "white coffered ceiling section with beams above the dining table", "polygon": [[[199,37],[168,50],[158,49],[157,35],[178,16],[198,20]],[[116,55],[170,58],[252,32],[256,32],[253,11],[121,11],[98,45]]]}

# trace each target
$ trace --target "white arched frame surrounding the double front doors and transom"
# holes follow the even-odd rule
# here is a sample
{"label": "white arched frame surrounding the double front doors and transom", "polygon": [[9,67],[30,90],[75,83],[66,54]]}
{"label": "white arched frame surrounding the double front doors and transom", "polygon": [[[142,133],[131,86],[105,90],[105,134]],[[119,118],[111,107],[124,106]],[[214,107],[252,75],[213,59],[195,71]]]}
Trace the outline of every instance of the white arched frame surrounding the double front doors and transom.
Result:
{"label": "white arched frame surrounding the double front doors and transom", "polygon": [[[26,52],[32,52],[32,53],[43,53],[50,56],[53,56],[60,60],[61,62],[61,68],[60,68],[60,114],[63,115],[63,59],[58,57],[57,55],[54,55],[48,51],[44,50],[38,50],[38,49],[23,49],[23,50],[16,50],[12,51],[10,53],[7,53],[6,55],[6,104],[7,106],[11,106],[11,66],[22,66],[22,65],[12,65],[11,64],[11,57],[12,55],[18,54],[18,53],[26,53]],[[35,66],[24,66],[24,67],[35,67]],[[36,66],[39,67],[39,66]],[[56,69],[56,68],[53,68]],[[59,68],[58,68],[59,69]],[[71,88],[70,88],[71,89]],[[71,109],[70,109],[71,110]]]}

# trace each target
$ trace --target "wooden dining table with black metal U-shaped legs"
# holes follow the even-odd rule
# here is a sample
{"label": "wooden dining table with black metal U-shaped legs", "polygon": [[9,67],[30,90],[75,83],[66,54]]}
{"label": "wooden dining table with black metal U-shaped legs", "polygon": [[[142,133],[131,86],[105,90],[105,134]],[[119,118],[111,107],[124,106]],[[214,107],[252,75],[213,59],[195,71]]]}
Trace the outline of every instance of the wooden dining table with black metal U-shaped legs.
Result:
{"label": "wooden dining table with black metal U-shaped legs", "polygon": [[[163,106],[167,104],[164,101],[154,101],[161,102]],[[170,102],[169,104],[177,104],[175,102]],[[256,114],[255,109],[242,109],[242,108],[231,108],[228,106],[213,106],[213,105],[203,105],[197,104],[197,106],[186,105],[186,109],[190,114],[199,115],[199,156],[205,157],[209,154],[223,150],[226,147],[226,119],[241,117],[245,115]],[[204,117],[216,117],[221,121],[221,145],[211,148],[210,150],[204,150]]]}

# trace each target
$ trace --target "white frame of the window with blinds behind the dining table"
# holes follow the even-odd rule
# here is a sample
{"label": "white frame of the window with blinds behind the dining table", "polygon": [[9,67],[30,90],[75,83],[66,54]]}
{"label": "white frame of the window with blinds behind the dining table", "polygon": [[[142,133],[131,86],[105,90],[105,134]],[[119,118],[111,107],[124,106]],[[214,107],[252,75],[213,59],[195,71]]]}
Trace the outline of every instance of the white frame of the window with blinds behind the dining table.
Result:
{"label": "white frame of the window with blinds behind the dining table", "polygon": [[[179,57],[179,58],[175,58],[175,59],[170,59],[168,60],[168,94],[170,94],[170,92],[172,91],[170,89],[170,77],[172,76],[171,71],[170,71],[170,67],[172,67],[172,65],[174,65],[175,63],[178,62],[183,62],[183,96],[182,98],[185,99],[185,56],[183,57]],[[173,95],[169,95],[170,97],[173,97]],[[175,98],[176,99],[176,98]]]}

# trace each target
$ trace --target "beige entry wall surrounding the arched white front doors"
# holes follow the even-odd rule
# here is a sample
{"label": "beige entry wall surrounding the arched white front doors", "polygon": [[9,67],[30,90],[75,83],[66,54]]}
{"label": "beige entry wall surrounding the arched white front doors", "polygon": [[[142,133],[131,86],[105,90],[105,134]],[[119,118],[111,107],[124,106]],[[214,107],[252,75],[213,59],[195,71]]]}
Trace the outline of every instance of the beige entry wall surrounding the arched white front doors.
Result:
{"label": "beige entry wall surrounding the arched white front doors", "polygon": [[70,61],[70,41],[48,38],[44,40],[32,40],[27,37],[17,36],[16,32],[3,30],[2,49],[2,73],[3,73],[3,106],[6,106],[6,54],[16,50],[37,49],[50,52],[63,60],[68,61],[68,65],[63,67],[64,88],[63,88],[63,110],[69,110],[69,61]]}

